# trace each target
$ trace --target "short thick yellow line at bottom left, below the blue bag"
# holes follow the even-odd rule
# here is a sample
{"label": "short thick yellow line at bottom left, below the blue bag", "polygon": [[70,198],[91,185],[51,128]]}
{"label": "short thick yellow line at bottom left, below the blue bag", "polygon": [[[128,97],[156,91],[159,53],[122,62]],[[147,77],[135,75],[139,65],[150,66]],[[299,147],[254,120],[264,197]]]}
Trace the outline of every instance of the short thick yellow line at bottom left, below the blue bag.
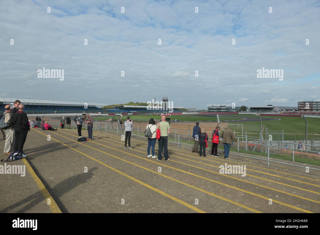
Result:
{"label": "short thick yellow line at bottom left, below the blue bag", "polygon": [[33,180],[35,181],[36,185],[38,186],[40,192],[44,196],[46,204],[48,204],[48,199],[50,199],[50,204],[48,205],[51,209],[52,213],[62,213],[60,208],[58,207],[56,201],[52,198],[49,191],[46,189],[42,181],[37,176],[36,172],[32,169],[27,159],[22,159],[23,163],[26,165],[26,168],[28,169],[30,175],[32,176]]}

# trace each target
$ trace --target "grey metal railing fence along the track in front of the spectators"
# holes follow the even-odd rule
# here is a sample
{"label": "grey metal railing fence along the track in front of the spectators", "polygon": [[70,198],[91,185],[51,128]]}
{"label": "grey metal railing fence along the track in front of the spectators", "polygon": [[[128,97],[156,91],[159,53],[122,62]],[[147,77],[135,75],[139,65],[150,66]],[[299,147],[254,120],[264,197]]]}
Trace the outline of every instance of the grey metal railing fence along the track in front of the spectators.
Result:
{"label": "grey metal railing fence along the track in front of the spectators", "polygon": [[[50,125],[60,128],[60,122],[48,121]],[[237,124],[239,125],[239,124]],[[310,169],[320,170],[320,141],[315,142],[314,144],[299,144],[298,141],[294,140],[269,140],[262,138],[260,135],[261,132],[249,132],[243,130],[242,128],[234,126],[235,128],[232,131],[235,133],[236,139],[231,147],[230,153],[249,157],[259,160],[265,160],[269,162],[282,163],[298,167],[309,167]],[[65,125],[66,128],[66,125]],[[71,123],[72,129],[77,129],[76,123]],[[87,124],[83,124],[83,129],[87,129]],[[93,130],[96,130],[101,133],[114,133],[116,135],[124,135],[124,126],[111,123],[93,123]],[[146,126],[142,125],[133,125],[132,128],[132,138],[143,137]],[[208,140],[208,149],[206,151],[211,151],[211,132],[207,131],[209,140]],[[268,132],[267,132],[268,134]],[[266,136],[266,135],[265,135]],[[282,133],[282,137],[283,137]],[[190,130],[181,130],[181,129],[170,129],[170,134],[168,136],[168,142],[177,145],[178,148],[184,146],[192,146],[194,144],[194,138],[192,137],[192,131]],[[218,150],[223,152],[223,144],[220,142],[218,144]]]}

